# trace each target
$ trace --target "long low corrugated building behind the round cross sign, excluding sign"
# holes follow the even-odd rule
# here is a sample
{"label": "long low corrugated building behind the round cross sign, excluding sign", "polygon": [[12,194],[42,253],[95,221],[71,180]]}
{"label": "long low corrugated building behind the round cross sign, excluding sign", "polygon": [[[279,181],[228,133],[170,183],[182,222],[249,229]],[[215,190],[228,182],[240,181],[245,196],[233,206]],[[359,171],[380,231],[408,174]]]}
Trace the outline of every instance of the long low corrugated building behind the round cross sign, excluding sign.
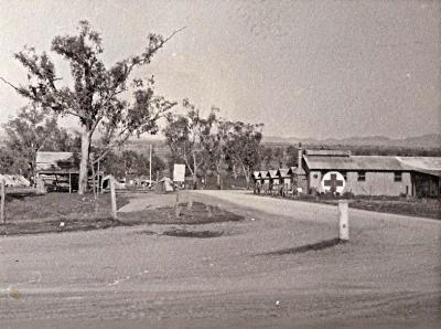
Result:
{"label": "long low corrugated building behind the round cross sign, excluding sign", "polygon": [[323,176],[337,171],[345,179],[343,192],[355,195],[440,195],[441,158],[306,150],[299,163],[305,171],[308,193],[323,193]]}

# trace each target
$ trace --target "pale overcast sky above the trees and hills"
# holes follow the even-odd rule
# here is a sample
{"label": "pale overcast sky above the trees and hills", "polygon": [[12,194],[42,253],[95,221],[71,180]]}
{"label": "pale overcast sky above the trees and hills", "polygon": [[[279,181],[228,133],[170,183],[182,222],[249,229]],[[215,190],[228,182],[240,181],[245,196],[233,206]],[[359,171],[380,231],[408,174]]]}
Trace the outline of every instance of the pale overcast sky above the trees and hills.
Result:
{"label": "pale overcast sky above the trees and hills", "polygon": [[[135,76],[154,74],[169,99],[265,123],[266,135],[441,131],[440,1],[0,0],[0,75],[24,82],[13,53],[49,51],[84,19],[109,66],[141,52],[149,32],[186,25]],[[25,104],[0,84],[0,123]]]}

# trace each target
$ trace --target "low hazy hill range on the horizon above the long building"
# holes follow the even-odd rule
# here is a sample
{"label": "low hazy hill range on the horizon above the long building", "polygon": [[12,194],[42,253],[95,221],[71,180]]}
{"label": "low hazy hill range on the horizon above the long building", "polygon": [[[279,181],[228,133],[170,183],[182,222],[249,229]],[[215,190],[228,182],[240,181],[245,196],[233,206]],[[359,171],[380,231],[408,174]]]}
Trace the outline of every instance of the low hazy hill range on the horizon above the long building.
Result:
{"label": "low hazy hill range on the horizon above the long building", "polygon": [[429,134],[404,139],[392,139],[384,136],[351,137],[344,139],[314,139],[297,137],[265,136],[265,144],[277,145],[316,145],[316,146],[378,146],[378,147],[407,147],[407,148],[441,148],[441,134]]}

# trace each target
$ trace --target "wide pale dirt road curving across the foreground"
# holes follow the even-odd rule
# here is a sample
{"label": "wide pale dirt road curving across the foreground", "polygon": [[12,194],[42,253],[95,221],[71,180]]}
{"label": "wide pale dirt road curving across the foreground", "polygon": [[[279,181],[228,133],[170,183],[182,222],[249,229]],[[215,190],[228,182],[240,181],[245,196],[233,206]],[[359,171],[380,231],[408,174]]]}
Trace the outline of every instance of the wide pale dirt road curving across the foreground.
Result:
{"label": "wide pale dirt road curving across the foreground", "polygon": [[[147,211],[174,202],[146,198]],[[232,191],[181,198],[246,220],[193,227],[224,232],[215,238],[152,234],[162,225],[0,238],[0,328],[441,323],[439,221],[352,210],[349,243],[302,252],[336,236],[336,208]]]}

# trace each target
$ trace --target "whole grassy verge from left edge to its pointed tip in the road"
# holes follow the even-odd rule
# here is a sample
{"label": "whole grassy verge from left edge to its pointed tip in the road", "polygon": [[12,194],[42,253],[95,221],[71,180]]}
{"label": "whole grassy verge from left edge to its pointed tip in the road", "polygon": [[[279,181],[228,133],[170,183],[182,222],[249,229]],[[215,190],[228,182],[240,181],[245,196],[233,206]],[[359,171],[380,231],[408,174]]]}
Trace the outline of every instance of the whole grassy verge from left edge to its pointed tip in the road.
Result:
{"label": "whole grassy verge from left edge to its pointed tip in the road", "polygon": [[[129,201],[128,195],[117,197],[117,208]],[[97,211],[94,195],[68,193],[14,194],[6,203],[7,223],[0,223],[0,235],[60,233],[99,230],[120,225],[139,224],[206,224],[241,221],[243,216],[220,208],[194,202],[175,208],[147,209],[141,212],[119,213],[110,216],[110,195],[99,195]],[[171,234],[172,235],[172,234]]]}

